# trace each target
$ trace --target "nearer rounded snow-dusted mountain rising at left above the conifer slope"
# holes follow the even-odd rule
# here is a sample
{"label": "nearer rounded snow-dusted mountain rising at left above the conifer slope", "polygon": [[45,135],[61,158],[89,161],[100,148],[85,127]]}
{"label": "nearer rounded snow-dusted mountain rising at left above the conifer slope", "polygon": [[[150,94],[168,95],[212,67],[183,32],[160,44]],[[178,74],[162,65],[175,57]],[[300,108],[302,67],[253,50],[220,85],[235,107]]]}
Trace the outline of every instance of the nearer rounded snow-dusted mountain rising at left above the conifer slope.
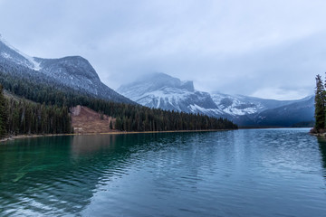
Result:
{"label": "nearer rounded snow-dusted mountain rising at left above the conifer slope", "polygon": [[89,61],[80,56],[60,59],[31,57],[0,36],[0,71],[12,73],[60,89],[68,87],[100,99],[134,103],[103,84]]}

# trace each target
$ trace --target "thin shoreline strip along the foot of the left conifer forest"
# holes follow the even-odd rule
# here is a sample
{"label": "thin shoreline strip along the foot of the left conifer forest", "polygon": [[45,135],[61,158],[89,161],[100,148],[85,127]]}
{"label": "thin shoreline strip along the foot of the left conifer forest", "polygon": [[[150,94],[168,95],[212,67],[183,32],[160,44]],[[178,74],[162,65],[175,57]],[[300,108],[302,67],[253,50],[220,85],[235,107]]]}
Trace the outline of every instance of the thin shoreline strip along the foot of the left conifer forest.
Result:
{"label": "thin shoreline strip along the foot of the left conifer forest", "polygon": [[200,129],[200,130],[166,130],[166,131],[111,131],[106,133],[76,133],[76,134],[31,134],[17,135],[0,139],[0,144],[14,139],[32,138],[32,137],[64,137],[64,136],[89,136],[89,135],[123,135],[123,134],[151,134],[151,133],[191,133],[191,132],[218,132],[236,129]]}

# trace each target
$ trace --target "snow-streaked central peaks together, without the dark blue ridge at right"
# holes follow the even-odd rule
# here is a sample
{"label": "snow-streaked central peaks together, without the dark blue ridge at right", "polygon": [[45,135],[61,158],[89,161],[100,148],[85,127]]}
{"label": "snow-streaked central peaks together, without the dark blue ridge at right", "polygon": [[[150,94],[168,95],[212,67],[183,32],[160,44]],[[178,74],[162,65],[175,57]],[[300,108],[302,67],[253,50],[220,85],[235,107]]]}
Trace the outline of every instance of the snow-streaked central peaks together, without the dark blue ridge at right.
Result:
{"label": "snow-streaked central peaks together, without the dark blue ridge at right", "polygon": [[192,81],[181,81],[164,73],[154,73],[118,89],[122,95],[150,108],[173,109],[210,116],[243,116],[265,109],[259,102],[222,93],[209,94],[194,89]]}

